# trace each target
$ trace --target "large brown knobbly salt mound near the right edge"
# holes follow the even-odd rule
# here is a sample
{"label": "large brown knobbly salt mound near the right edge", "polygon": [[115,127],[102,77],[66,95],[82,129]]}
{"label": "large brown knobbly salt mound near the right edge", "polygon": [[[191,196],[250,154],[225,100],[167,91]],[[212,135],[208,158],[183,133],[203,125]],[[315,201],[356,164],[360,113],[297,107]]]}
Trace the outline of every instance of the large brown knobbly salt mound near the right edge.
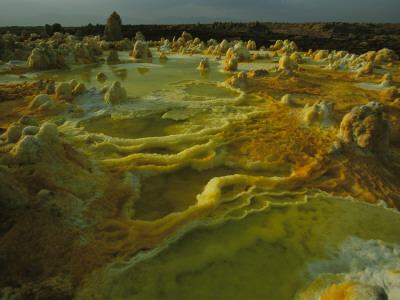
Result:
{"label": "large brown knobbly salt mound near the right edge", "polygon": [[340,123],[341,137],[359,150],[384,157],[391,127],[389,121],[383,118],[382,112],[383,106],[376,102],[353,107]]}

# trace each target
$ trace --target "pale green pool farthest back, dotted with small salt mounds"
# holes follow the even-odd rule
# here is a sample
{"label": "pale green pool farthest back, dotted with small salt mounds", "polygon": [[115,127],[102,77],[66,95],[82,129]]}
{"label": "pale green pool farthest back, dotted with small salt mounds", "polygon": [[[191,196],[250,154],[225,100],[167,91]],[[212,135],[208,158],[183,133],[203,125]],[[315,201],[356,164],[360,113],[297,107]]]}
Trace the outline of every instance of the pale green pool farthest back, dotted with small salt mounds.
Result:
{"label": "pale green pool farthest back, dotted with small salt mounds", "polygon": [[[57,82],[69,82],[75,79],[83,82],[88,88],[94,86],[101,88],[111,85],[114,80],[119,80],[127,89],[131,97],[147,95],[152,90],[170,88],[171,83],[182,79],[224,81],[225,76],[218,72],[218,64],[211,62],[211,67],[216,70],[209,72],[207,77],[197,69],[201,57],[183,57],[180,55],[168,55],[170,58],[166,63],[160,63],[158,57],[151,60],[133,61],[126,52],[119,52],[121,62],[118,64],[95,63],[91,65],[78,66],[71,69],[50,70],[33,74],[34,79],[54,79]],[[96,74],[103,72],[107,76],[105,82],[96,80]]]}

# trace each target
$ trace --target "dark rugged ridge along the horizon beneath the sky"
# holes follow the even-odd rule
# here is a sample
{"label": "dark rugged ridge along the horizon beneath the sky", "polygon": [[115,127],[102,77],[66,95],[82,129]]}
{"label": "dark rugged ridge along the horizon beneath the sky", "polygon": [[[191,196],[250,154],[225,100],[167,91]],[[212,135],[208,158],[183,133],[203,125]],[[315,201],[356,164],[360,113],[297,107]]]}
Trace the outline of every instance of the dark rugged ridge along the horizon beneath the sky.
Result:
{"label": "dark rugged ridge along the horizon beneath the sky", "polygon": [[[37,33],[41,36],[51,35],[54,27],[59,24],[36,27],[0,27],[0,33],[7,31],[21,35]],[[81,27],[62,27],[62,32],[77,36],[103,36],[104,25],[88,24]],[[295,41],[301,51],[308,49],[347,50],[355,54],[371,50],[389,48],[400,55],[400,24],[399,23],[232,23],[214,22],[213,24],[176,24],[176,25],[122,25],[122,35],[132,39],[137,31],[141,31],[146,40],[160,40],[164,37],[172,40],[179,37],[182,31],[188,31],[193,37],[202,41],[210,38],[221,41],[254,40],[257,47],[269,46],[276,40],[289,39]]]}

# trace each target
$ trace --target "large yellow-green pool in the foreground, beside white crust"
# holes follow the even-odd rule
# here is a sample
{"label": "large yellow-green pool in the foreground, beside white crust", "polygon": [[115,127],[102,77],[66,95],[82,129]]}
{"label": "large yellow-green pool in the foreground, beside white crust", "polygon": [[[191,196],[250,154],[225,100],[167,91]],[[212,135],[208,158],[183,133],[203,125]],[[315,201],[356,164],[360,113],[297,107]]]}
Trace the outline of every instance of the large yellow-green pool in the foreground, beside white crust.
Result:
{"label": "large yellow-green pool in the foreground, beside white crust", "polygon": [[[139,254],[131,262],[110,265],[96,293],[105,299],[293,299],[314,279],[308,264],[336,259],[340,252],[331,251],[348,239],[400,243],[397,212],[309,194],[305,204],[198,226],[154,255]],[[354,249],[360,246],[354,243]],[[371,256],[377,251],[364,250]],[[395,263],[398,255],[391,253],[389,261]],[[362,258],[349,255],[346,259],[350,265]],[[360,266],[360,279],[371,267]],[[340,273],[349,266],[320,269]]]}

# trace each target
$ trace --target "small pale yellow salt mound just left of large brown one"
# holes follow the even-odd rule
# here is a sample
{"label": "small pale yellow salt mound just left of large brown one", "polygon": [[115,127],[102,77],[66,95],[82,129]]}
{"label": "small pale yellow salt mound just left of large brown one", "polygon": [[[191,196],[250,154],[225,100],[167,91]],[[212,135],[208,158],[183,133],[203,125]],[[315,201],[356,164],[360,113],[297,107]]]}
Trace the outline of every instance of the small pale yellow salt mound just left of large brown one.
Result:
{"label": "small pale yellow salt mound just left of large brown one", "polygon": [[332,126],[332,111],[334,105],[334,103],[326,103],[325,101],[317,101],[312,106],[307,103],[302,110],[304,122],[309,125],[318,122],[322,127]]}

